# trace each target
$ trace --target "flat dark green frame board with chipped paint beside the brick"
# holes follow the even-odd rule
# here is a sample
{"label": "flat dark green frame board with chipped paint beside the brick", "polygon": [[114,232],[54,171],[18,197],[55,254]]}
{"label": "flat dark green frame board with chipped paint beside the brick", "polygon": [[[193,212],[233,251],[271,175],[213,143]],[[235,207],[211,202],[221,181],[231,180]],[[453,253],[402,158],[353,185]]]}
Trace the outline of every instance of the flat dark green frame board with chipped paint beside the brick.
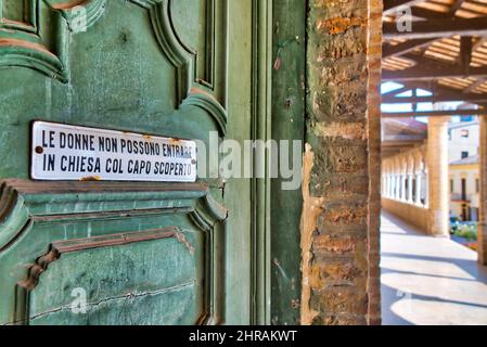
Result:
{"label": "flat dark green frame board with chipped paint beside the brick", "polygon": [[[306,95],[307,7],[300,0],[273,1],[272,138],[303,140]],[[292,162],[290,162],[292,163]],[[271,185],[272,323],[299,322],[302,191]]]}

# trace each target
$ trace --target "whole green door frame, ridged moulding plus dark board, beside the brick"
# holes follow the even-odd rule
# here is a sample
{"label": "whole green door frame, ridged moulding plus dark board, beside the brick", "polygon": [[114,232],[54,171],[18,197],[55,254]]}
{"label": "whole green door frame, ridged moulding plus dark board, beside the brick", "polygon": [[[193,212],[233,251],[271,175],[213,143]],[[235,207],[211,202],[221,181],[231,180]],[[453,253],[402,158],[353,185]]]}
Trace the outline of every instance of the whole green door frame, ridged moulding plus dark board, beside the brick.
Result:
{"label": "whole green door frame, ridged moulding plus dark board, beside the brick", "polygon": [[[253,139],[303,141],[307,1],[253,0]],[[303,197],[281,184],[269,177],[252,184],[251,323],[257,325],[299,323]]]}

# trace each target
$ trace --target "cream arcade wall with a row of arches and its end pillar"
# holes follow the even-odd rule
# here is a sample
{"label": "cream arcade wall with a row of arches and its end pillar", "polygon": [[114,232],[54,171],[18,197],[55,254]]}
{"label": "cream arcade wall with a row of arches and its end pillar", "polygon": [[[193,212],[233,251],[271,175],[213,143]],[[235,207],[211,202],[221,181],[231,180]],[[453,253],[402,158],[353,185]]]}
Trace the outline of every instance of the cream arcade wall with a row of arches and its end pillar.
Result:
{"label": "cream arcade wall with a row of arches and its end pillar", "polygon": [[[383,207],[435,236],[449,234],[448,121],[396,120],[408,125],[397,133],[389,120],[383,143]],[[401,144],[405,139],[408,145]]]}

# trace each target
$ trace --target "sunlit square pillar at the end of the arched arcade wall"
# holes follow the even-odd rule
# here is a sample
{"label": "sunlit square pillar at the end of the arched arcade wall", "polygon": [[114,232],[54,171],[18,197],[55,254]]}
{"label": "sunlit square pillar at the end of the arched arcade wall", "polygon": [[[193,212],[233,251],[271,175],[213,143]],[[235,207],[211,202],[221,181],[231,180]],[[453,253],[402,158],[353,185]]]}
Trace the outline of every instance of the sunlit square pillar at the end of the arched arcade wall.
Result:
{"label": "sunlit square pillar at the end of the arched arcade wall", "polygon": [[430,117],[427,171],[430,194],[428,232],[449,236],[448,123],[450,117]]}

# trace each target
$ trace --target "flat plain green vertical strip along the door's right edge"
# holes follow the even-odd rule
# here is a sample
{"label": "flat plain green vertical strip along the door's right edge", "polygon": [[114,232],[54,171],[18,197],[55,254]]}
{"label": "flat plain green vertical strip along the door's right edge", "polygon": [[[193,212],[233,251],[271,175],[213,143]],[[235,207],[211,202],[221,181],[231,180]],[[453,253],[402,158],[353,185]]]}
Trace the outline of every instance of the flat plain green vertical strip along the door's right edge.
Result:
{"label": "flat plain green vertical strip along the door's right edge", "polygon": [[[228,138],[241,143],[252,139],[252,0],[228,2],[229,22],[229,114],[239,115],[228,126]],[[240,74],[232,74],[239,70]],[[236,102],[236,100],[239,100]],[[226,322],[249,324],[252,306],[252,204],[251,180],[230,179],[225,187],[225,204],[229,209],[227,252],[233,257],[226,267],[226,287],[230,295],[225,298]],[[246,260],[242,260],[246,259]],[[245,285],[243,285],[245,284]]]}

